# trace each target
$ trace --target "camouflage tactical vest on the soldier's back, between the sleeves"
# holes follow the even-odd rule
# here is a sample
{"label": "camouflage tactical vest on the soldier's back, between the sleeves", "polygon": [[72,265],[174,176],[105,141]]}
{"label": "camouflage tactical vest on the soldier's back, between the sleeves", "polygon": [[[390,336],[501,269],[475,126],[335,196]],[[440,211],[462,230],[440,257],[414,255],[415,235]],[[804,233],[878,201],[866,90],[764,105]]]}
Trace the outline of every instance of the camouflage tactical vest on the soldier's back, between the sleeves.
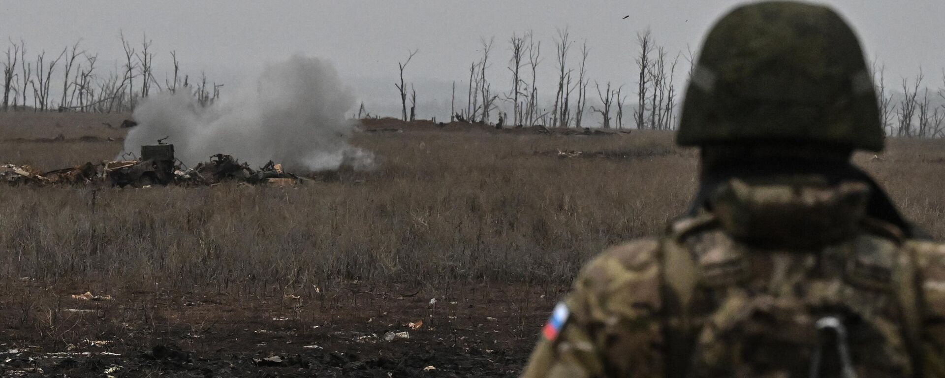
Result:
{"label": "camouflage tactical vest on the soldier's back, between the sleeves", "polygon": [[860,183],[732,181],[662,239],[667,376],[920,376],[902,232]]}

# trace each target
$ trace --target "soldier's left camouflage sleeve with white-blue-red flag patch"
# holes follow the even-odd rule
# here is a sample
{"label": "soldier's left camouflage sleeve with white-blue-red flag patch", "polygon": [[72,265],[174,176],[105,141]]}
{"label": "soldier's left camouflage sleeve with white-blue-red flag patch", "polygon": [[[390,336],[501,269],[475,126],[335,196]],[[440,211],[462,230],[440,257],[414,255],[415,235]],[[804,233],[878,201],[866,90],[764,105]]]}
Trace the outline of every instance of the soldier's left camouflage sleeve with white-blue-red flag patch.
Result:
{"label": "soldier's left camouflage sleeve with white-blue-red flag patch", "polygon": [[542,333],[523,377],[661,376],[658,251],[656,240],[638,240],[585,266],[563,301],[566,321]]}

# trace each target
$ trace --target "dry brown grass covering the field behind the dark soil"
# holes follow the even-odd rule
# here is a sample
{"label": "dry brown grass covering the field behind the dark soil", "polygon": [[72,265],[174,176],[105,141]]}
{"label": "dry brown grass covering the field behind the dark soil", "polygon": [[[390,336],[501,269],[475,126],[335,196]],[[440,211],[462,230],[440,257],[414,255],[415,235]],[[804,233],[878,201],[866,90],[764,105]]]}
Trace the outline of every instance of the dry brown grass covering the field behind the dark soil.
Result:
{"label": "dry brown grass covering the field behind the dark soil", "polygon": [[[365,134],[356,144],[382,158],[379,169],[297,188],[0,186],[0,275],[188,290],[345,280],[514,281],[557,290],[600,249],[662,231],[696,189],[696,152],[673,147],[667,133],[427,130]],[[906,215],[945,236],[945,146],[890,145],[883,161],[870,155],[857,162]],[[109,159],[120,149],[118,143],[0,147],[0,162],[50,169]],[[642,157],[533,153],[557,149]]]}

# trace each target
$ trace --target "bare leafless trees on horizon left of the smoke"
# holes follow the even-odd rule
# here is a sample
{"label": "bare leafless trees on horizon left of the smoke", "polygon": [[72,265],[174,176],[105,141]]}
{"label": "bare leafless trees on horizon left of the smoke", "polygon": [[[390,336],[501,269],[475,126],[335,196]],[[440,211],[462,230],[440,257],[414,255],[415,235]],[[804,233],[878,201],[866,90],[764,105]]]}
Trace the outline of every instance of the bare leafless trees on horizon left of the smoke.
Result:
{"label": "bare leafless trees on horizon left of the smoke", "polygon": [[[176,93],[180,89],[194,94],[202,105],[212,103],[220,94],[222,84],[208,83],[201,73],[192,83],[180,74],[177,52],[171,51],[173,77],[165,77],[163,86],[154,75],[155,54],[151,40],[145,36],[140,45],[119,34],[124,55],[114,62],[110,71],[103,71],[98,54],[81,49],[81,40],[62,49],[55,57],[27,54],[24,41],[9,41],[3,64],[2,110],[33,112],[130,112],[152,90]],[[100,63],[99,63],[100,64]],[[54,76],[61,77],[61,94],[53,94]],[[56,98],[58,97],[58,98]]]}

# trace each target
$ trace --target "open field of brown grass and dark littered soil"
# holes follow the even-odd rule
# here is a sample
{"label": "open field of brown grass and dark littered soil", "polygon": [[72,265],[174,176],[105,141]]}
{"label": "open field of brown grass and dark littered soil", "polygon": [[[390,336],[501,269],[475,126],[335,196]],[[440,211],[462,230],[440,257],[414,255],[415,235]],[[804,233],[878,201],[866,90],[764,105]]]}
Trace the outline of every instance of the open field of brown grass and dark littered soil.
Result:
{"label": "open field of brown grass and dark littered soil", "polygon": [[[0,113],[0,163],[110,160],[123,130],[102,123],[123,118]],[[0,185],[0,361],[27,348],[12,358],[47,375],[514,376],[576,269],[660,232],[696,190],[696,150],[670,133],[372,122],[404,130],[357,135],[377,169],[299,187]],[[945,237],[945,143],[856,161]],[[112,299],[71,298],[86,291]],[[285,361],[253,362],[270,354]]]}

